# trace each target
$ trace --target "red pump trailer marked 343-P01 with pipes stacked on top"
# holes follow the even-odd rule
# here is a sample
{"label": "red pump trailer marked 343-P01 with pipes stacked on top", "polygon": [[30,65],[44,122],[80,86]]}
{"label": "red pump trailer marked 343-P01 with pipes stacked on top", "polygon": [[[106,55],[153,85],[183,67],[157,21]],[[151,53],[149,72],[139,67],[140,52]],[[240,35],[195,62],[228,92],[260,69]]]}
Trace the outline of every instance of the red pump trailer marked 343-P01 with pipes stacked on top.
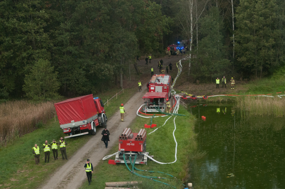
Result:
{"label": "red pump trailer marked 343-P01 with pipes stacked on top", "polygon": [[124,163],[123,155],[125,154],[127,163],[130,163],[130,156],[133,162],[135,155],[137,155],[136,164],[147,164],[147,156],[145,154],[148,155],[149,152],[145,152],[146,139],[147,132],[145,129],[140,129],[138,133],[132,133],[132,129],[125,128],[119,136],[119,150],[115,157],[115,163]]}

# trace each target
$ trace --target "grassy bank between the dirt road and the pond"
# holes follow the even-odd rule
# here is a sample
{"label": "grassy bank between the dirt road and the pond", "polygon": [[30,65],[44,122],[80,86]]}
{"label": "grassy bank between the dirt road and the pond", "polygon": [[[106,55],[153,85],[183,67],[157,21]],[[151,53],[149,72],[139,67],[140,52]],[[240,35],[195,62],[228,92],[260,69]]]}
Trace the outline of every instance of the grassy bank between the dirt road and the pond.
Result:
{"label": "grassy bank between the dirt road and the pond", "polygon": [[[161,171],[164,173],[172,174],[174,177],[177,177],[177,181],[175,179],[165,180],[158,179],[159,181],[163,181],[166,183],[170,183],[171,185],[176,186],[177,188],[182,188],[183,182],[188,179],[188,162],[191,158],[194,158],[193,150],[196,148],[196,143],[194,140],[193,126],[194,126],[194,117],[190,115],[186,109],[180,107],[179,114],[184,114],[186,116],[177,116],[175,118],[176,130],[175,137],[178,143],[177,145],[177,161],[172,164],[158,164],[154,161],[147,162],[147,165],[135,165],[136,168],[141,170],[149,170],[149,171]],[[167,117],[153,118],[153,124],[157,124],[157,127],[163,125]],[[154,159],[163,163],[173,162],[175,160],[175,142],[173,138],[173,130],[174,130],[174,116],[168,120],[168,122],[163,126],[158,128],[154,133],[147,134],[147,146],[146,151],[149,152],[149,155],[153,155]],[[150,118],[142,118],[138,117],[131,124],[130,127],[132,132],[138,132],[139,129],[144,127],[144,124],[150,124]],[[146,129],[147,133],[152,132],[157,127],[152,129]],[[122,131],[123,132],[123,131]],[[118,138],[113,138],[112,140],[118,140]],[[118,146],[115,145],[110,154],[117,152]],[[110,159],[115,159],[115,156]],[[131,168],[131,166],[129,165]],[[165,174],[161,173],[150,173],[150,172],[140,172],[136,171],[139,174],[145,176],[160,176],[171,178]],[[149,179],[142,179],[141,177],[133,175],[127,169],[124,163],[119,163],[117,165],[108,164],[108,160],[101,161],[100,165],[98,165],[93,173],[94,183],[92,182],[92,187],[95,188],[104,188],[105,182],[115,182],[115,181],[143,181],[140,188],[172,188],[161,183],[157,183],[155,181],[150,181]],[[86,182],[81,186],[81,189],[90,188],[88,186],[88,182]]]}

